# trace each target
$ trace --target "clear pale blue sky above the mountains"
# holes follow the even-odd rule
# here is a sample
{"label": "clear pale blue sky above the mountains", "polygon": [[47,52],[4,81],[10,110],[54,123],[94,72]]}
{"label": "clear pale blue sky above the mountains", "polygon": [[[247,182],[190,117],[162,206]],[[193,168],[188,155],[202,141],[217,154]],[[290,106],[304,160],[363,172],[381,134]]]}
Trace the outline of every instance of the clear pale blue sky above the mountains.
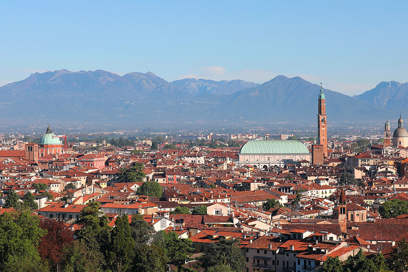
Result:
{"label": "clear pale blue sky above the mountains", "polygon": [[3,1],[0,85],[104,69],[263,83],[300,76],[345,94],[408,81],[408,2]]}

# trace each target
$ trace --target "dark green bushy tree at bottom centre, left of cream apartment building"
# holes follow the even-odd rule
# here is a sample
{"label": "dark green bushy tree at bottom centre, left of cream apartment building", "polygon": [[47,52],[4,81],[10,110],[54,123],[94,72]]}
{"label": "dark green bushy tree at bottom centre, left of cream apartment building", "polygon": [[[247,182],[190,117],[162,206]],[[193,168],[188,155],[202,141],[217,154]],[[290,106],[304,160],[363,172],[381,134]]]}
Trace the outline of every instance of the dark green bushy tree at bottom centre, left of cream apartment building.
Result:
{"label": "dark green bushy tree at bottom centre, left of cream apartment building", "polygon": [[198,259],[202,267],[208,268],[216,265],[228,265],[233,271],[245,271],[245,258],[238,248],[238,239],[221,238],[217,243],[210,243],[206,252]]}

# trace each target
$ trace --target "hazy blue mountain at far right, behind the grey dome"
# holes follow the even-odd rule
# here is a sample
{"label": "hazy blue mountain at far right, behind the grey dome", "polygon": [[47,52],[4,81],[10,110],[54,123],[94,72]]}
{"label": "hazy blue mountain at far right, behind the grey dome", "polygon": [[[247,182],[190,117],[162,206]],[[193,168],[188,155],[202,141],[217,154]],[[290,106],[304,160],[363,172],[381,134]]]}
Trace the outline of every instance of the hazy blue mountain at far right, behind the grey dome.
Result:
{"label": "hazy blue mountain at far right, behind the grey dome", "polygon": [[369,105],[389,110],[408,109],[408,82],[381,82],[375,88],[353,97]]}

